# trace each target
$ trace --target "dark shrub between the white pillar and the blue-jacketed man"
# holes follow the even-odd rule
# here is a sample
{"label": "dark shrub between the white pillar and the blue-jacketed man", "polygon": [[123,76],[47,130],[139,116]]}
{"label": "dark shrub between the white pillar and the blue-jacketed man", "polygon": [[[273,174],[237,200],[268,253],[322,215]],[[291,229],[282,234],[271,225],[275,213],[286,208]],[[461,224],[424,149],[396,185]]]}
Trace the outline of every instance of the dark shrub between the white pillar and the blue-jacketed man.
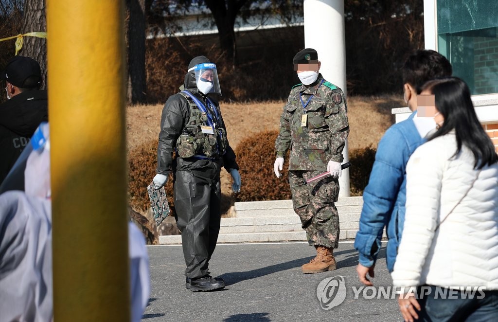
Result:
{"label": "dark shrub between the white pillar and the blue-jacketed man", "polygon": [[363,190],[369,183],[370,172],[372,172],[373,161],[375,161],[376,149],[369,146],[354,149],[349,153],[351,167],[349,170],[350,189],[352,196],[363,195]]}

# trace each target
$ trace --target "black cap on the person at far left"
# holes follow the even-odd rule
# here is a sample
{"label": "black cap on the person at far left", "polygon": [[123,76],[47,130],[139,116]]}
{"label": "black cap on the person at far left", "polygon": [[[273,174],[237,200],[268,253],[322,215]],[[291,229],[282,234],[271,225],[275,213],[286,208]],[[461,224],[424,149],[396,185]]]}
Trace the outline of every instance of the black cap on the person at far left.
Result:
{"label": "black cap on the person at far left", "polygon": [[38,87],[41,84],[40,64],[29,57],[14,56],[1,71],[0,79],[20,88]]}

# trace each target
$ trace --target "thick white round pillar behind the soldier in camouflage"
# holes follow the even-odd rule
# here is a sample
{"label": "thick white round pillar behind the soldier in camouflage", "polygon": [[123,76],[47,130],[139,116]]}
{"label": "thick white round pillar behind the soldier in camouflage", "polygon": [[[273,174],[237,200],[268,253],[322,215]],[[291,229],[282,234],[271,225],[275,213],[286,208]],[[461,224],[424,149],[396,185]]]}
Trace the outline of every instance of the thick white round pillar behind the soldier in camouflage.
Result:
{"label": "thick white round pillar behind the soldier in camouflage", "polygon": [[[339,86],[346,96],[346,35],[344,30],[344,0],[304,0],[304,46],[318,52],[323,77]],[[343,151],[349,161],[348,141]],[[360,166],[353,164],[352,166]],[[339,196],[349,197],[349,170],[339,178]]]}

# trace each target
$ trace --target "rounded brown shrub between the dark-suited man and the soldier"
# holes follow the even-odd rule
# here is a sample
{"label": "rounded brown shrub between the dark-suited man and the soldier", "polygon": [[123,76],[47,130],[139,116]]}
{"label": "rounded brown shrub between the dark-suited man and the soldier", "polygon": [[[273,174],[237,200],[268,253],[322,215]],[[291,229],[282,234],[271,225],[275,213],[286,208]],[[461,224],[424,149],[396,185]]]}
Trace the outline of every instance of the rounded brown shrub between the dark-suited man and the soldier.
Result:
{"label": "rounded brown shrub between the dark-suited man and the soldier", "polygon": [[263,131],[244,139],[236,149],[237,163],[243,182],[237,201],[284,200],[290,199],[287,179],[289,158],[287,156],[282,177],[273,173],[275,161],[275,139],[277,131]]}

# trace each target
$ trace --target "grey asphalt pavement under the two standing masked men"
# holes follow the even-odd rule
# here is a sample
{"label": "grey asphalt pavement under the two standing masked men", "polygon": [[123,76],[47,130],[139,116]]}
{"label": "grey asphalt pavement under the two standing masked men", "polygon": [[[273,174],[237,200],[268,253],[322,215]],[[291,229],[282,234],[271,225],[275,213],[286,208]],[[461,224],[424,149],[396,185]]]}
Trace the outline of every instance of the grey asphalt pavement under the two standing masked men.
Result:
{"label": "grey asphalt pavement under the two standing masked men", "polygon": [[[376,265],[376,289],[357,292],[358,299],[354,298],[353,287],[358,290],[362,284],[356,274],[358,255],[351,242],[341,242],[335,251],[337,270],[309,275],[301,273],[301,265],[316,253],[307,243],[220,244],[210,268],[212,275],[223,277],[228,286],[217,292],[198,293],[185,289],[181,246],[149,246],[148,252],[152,291],[144,322],[402,321],[396,300],[384,299],[385,295],[378,293],[377,287],[391,285],[385,248]],[[324,310],[317,287],[322,280],[335,276],[344,278],[346,299]],[[335,279],[339,280],[340,277]],[[338,283],[332,281],[329,286]],[[340,286],[330,290],[332,302],[327,301],[327,295],[323,302],[332,306],[342,299],[344,291]],[[372,296],[373,292],[376,296]]]}

